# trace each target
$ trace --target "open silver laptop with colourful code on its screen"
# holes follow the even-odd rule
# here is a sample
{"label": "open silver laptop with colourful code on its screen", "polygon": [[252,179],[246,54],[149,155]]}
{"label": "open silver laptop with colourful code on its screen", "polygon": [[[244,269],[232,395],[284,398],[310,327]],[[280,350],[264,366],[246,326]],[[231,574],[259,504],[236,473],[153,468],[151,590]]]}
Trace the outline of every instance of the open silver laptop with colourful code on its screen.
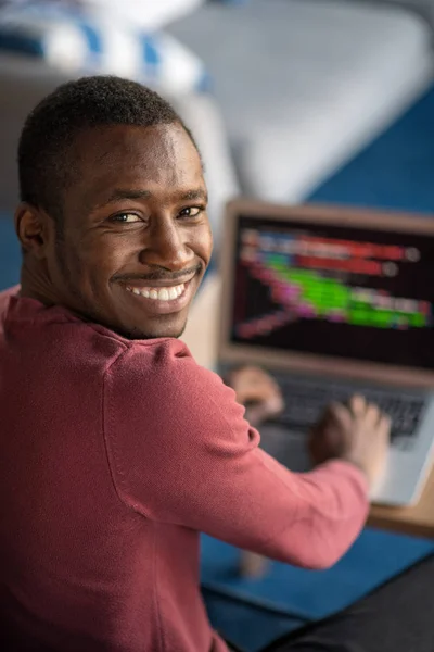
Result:
{"label": "open silver laptop with colourful code on its screen", "polygon": [[417,502],[434,442],[434,220],[238,199],[221,250],[219,371],[258,364],[285,399],[261,447],[307,471],[310,426],[361,393],[392,417],[371,500]]}

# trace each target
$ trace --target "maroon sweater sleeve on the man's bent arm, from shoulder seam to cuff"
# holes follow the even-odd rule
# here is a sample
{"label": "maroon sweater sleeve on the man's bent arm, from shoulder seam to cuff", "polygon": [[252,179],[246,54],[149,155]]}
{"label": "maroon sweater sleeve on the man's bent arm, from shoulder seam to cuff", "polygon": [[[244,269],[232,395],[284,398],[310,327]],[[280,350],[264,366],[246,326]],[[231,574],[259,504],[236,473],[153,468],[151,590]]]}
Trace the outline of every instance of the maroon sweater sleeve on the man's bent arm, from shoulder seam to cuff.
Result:
{"label": "maroon sweater sleeve on the man's bent arm, from shoulder seam to cuff", "polygon": [[234,391],[184,344],[135,344],[104,380],[118,497],[146,518],[295,565],[335,563],[360,532],[368,487],[341,461],[295,474],[258,448]]}

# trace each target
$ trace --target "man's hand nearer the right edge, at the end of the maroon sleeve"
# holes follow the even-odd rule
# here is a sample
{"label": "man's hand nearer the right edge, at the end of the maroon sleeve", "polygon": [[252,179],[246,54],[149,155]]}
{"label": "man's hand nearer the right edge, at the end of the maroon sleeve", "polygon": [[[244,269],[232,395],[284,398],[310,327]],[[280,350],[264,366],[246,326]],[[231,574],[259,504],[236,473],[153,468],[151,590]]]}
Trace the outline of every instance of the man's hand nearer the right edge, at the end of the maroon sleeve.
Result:
{"label": "man's hand nearer the right edge, at the end of the maroon sleeve", "polygon": [[348,405],[331,404],[312,428],[309,452],[315,464],[339,459],[365,472],[372,486],[384,472],[390,446],[391,419],[362,397]]}

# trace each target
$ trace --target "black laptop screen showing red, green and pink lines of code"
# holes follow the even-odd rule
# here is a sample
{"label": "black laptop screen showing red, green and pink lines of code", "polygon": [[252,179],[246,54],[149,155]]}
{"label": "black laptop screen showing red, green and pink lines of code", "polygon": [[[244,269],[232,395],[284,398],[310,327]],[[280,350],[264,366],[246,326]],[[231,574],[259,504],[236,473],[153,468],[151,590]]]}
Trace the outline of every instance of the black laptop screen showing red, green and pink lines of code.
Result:
{"label": "black laptop screen showing red, green and pink lines of code", "polygon": [[434,236],[238,221],[231,341],[434,368]]}

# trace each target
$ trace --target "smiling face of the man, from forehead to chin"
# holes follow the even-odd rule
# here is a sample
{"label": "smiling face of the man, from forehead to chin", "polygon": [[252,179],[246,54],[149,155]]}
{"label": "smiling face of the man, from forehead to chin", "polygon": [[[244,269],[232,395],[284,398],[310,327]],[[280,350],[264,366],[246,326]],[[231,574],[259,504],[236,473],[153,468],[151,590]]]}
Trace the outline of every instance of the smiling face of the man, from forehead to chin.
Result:
{"label": "smiling face of the man, from forehead to chin", "polygon": [[90,129],[74,145],[55,296],[130,338],[179,337],[213,241],[199,153],[178,124]]}

